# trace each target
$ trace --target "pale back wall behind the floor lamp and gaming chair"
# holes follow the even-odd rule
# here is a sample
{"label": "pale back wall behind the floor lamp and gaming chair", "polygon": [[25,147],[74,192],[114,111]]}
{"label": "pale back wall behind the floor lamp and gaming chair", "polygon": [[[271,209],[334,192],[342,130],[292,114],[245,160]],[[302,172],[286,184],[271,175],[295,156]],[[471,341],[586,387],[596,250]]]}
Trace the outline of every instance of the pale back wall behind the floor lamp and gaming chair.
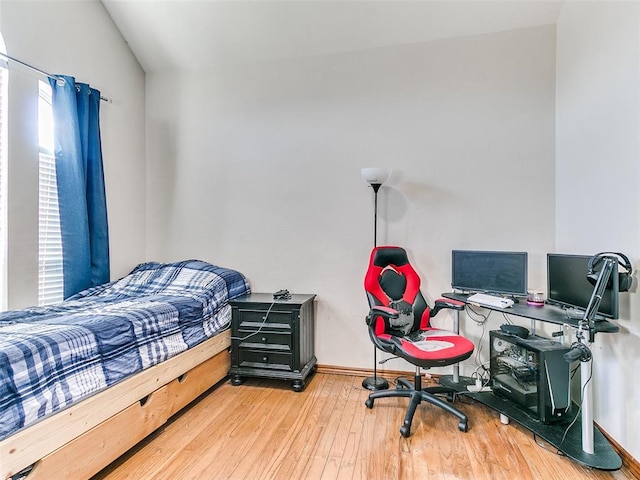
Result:
{"label": "pale back wall behind the floor lamp and gaming chair", "polygon": [[554,79],[553,26],[148,74],[150,257],[234,267],[254,291],[318,294],[319,362],[371,368],[373,193],[360,168],[394,169],[379,244],[409,249],[431,299],[450,290],[455,248],[526,250],[543,287]]}

